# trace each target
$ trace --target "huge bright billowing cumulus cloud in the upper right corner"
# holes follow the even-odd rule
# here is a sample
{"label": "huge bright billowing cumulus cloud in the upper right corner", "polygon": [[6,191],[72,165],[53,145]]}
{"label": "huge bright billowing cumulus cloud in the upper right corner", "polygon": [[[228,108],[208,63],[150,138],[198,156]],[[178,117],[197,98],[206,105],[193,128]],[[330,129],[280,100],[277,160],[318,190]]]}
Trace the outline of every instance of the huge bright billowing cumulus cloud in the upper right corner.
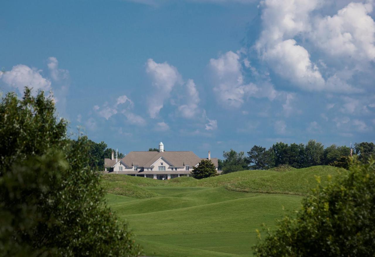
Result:
{"label": "huge bright billowing cumulus cloud in the upper right corner", "polygon": [[[353,58],[374,60],[375,23],[368,15],[372,4],[350,3],[332,17],[318,17],[314,11],[324,4],[321,0],[261,1],[263,31],[254,48],[276,74],[302,90],[358,92],[348,83],[353,74],[348,70],[324,78],[296,38],[307,38],[326,53],[348,57],[350,63]],[[318,63],[325,71],[330,68],[322,59]]]}

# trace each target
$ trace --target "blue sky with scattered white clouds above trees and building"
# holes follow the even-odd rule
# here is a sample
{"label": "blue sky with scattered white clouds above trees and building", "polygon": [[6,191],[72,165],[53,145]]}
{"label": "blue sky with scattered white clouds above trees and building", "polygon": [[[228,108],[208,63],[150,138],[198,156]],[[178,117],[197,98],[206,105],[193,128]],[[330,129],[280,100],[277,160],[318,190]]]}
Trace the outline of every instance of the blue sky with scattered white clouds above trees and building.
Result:
{"label": "blue sky with scattered white clouds above trees and building", "polygon": [[[5,1],[0,92],[52,92],[72,138],[222,157],[375,142],[375,2]],[[49,93],[48,93],[49,94]]]}

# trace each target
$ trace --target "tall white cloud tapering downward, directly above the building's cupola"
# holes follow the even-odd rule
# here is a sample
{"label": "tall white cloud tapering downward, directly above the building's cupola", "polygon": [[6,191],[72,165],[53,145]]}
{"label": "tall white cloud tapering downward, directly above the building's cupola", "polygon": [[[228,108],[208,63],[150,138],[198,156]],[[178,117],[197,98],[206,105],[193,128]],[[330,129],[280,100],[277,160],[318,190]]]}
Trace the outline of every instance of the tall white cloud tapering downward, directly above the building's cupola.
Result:
{"label": "tall white cloud tapering downward, directly above the building's cupola", "polygon": [[156,63],[153,59],[146,62],[146,72],[150,76],[154,91],[148,96],[148,113],[151,118],[156,118],[163,102],[169,98],[172,88],[181,82],[177,69],[167,62]]}

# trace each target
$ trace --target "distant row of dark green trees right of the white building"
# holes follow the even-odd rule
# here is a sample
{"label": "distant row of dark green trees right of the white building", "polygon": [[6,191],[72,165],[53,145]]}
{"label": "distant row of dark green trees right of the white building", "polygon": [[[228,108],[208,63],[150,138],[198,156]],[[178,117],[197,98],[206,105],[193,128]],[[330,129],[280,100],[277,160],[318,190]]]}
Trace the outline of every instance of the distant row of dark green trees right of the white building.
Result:
{"label": "distant row of dark green trees right of the white building", "polygon": [[[353,155],[360,162],[366,162],[375,156],[375,144],[362,142],[354,144]],[[260,145],[254,145],[247,155],[244,151],[236,152],[233,149],[223,151],[223,160],[219,160],[219,170],[223,173],[246,169],[270,169],[280,165],[289,165],[294,168],[306,168],[315,165],[332,165],[348,168],[350,147],[335,144],[324,148],[321,142],[309,140],[305,144],[285,144],[277,142],[268,150]]]}

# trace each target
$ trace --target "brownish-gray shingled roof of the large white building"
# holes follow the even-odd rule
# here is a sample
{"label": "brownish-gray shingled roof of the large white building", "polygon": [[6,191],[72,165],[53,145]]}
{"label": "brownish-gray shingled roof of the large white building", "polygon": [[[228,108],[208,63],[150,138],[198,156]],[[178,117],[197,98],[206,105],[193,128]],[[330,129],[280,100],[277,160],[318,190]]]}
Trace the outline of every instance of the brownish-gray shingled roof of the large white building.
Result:
{"label": "brownish-gray shingled roof of the large white building", "polygon": [[[129,166],[150,167],[160,157],[163,157],[174,167],[183,167],[186,165],[193,167],[201,160],[207,160],[207,158],[199,158],[192,151],[167,151],[162,153],[156,151],[132,151],[121,160]],[[211,158],[211,161],[217,167],[217,158]],[[104,167],[111,168],[115,165],[115,162],[116,160],[105,158]]]}

